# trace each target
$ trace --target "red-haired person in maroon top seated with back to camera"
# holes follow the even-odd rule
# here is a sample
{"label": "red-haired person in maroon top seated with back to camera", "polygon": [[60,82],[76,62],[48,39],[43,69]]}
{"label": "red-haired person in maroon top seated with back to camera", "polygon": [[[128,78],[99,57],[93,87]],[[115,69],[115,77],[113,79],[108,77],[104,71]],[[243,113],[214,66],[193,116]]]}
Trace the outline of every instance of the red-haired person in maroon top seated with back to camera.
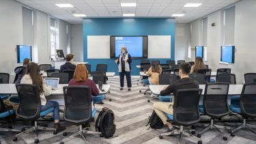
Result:
{"label": "red-haired person in maroon top seated with back to camera", "polygon": [[[96,83],[94,83],[94,81],[92,81],[91,79],[88,78],[88,72],[87,72],[87,69],[84,64],[78,64],[76,66],[76,70],[74,70],[74,78],[72,78],[70,80],[68,85],[89,86],[91,89],[91,95],[92,95],[93,102],[96,102],[96,101],[101,102],[104,99],[104,95],[98,97],[100,91],[99,91],[98,87],[96,86]],[[96,96],[98,98],[100,98],[100,100],[98,100],[98,98]],[[97,98],[97,100],[96,100],[96,98]],[[93,105],[94,104],[92,104],[92,106]]]}

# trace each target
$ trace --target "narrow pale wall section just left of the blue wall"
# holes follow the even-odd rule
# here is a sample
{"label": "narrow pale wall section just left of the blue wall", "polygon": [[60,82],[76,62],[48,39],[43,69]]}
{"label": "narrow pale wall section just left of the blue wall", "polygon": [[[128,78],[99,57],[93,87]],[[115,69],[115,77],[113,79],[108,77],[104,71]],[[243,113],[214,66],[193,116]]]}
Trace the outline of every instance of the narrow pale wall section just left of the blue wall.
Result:
{"label": "narrow pale wall section just left of the blue wall", "polygon": [[83,61],[83,25],[71,25],[70,53],[76,61]]}

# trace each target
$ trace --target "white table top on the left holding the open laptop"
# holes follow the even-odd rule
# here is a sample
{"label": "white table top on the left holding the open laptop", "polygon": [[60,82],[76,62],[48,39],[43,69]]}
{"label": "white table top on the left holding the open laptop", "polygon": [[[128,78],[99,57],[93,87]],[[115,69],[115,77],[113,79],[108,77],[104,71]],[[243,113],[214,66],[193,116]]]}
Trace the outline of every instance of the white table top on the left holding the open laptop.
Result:
{"label": "white table top on the left holding the open laptop", "polygon": [[[58,89],[53,91],[51,95],[63,95],[64,86],[68,86],[68,84],[59,84]],[[100,91],[101,94],[107,93],[110,89],[110,85],[102,85],[102,89],[104,89],[104,91]],[[17,94],[15,84],[0,84],[0,94]]]}

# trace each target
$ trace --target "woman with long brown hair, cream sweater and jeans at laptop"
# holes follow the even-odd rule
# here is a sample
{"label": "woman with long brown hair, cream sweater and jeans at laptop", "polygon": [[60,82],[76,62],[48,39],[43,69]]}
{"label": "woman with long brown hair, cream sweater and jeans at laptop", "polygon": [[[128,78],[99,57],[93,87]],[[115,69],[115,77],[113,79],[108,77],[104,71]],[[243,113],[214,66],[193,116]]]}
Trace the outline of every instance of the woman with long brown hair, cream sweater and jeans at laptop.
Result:
{"label": "woman with long brown hair, cream sweater and jeans at laptop", "polygon": [[53,111],[53,118],[55,120],[55,128],[57,132],[61,132],[66,129],[65,126],[59,125],[59,103],[55,101],[46,101],[45,96],[50,96],[52,88],[48,87],[43,78],[39,74],[39,66],[36,63],[29,63],[27,65],[27,72],[21,79],[20,83],[38,85],[41,99],[41,111],[46,111],[50,108],[55,108]]}

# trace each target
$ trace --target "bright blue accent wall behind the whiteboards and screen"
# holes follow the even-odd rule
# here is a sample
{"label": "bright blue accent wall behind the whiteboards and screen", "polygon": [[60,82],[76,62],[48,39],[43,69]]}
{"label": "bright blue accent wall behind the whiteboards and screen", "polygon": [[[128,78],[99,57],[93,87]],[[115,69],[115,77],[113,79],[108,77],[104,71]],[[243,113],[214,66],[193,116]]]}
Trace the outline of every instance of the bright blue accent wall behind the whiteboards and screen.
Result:
{"label": "bright blue accent wall behind the whiteboards and screen", "polygon": [[[174,60],[174,18],[85,18],[83,19],[83,59],[91,64],[91,71],[98,63],[108,64],[108,72],[116,72],[115,59],[87,59],[87,35],[171,35],[171,59]],[[109,48],[110,51],[110,48]],[[100,52],[99,52],[100,53]],[[158,59],[166,63],[167,59]],[[132,75],[139,75],[141,59],[132,59]]]}

